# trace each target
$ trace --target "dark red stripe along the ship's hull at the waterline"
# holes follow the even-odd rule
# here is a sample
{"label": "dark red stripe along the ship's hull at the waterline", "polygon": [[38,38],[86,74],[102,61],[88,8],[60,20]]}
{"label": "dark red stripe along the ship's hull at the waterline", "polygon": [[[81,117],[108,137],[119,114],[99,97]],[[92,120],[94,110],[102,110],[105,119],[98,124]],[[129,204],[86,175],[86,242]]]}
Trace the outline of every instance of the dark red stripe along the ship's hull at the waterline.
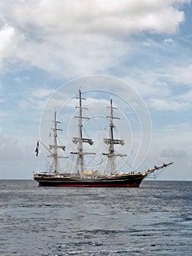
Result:
{"label": "dark red stripe along the ship's hull at the waterline", "polygon": [[139,187],[139,184],[42,184],[39,187]]}

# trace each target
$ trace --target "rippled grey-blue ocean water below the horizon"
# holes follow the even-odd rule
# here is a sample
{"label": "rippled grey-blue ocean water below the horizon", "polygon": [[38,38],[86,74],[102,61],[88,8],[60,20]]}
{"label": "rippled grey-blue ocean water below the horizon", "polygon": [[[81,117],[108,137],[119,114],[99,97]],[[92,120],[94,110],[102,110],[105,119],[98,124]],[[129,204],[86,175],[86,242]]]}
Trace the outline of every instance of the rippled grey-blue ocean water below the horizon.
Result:
{"label": "rippled grey-blue ocean water below the horizon", "polygon": [[139,188],[0,181],[0,255],[192,255],[192,181]]}

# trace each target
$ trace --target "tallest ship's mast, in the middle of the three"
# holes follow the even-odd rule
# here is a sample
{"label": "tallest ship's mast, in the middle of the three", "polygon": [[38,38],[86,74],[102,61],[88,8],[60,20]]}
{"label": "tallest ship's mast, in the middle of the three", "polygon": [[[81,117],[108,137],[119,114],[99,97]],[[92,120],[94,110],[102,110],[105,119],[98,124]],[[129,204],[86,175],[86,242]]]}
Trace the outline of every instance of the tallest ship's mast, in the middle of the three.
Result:
{"label": "tallest ship's mast, in the middle of the three", "polygon": [[[75,137],[73,138],[73,143],[77,144],[77,152],[71,152],[71,154],[77,154],[78,158],[77,158],[77,175],[80,175],[80,173],[82,173],[83,171],[83,166],[84,166],[84,155],[85,154],[96,154],[96,153],[91,153],[91,152],[84,152],[83,148],[82,148],[82,143],[89,143],[89,145],[93,145],[93,140],[92,139],[88,139],[88,138],[82,138],[82,119],[90,119],[88,117],[84,117],[82,116],[82,109],[87,109],[87,108],[83,108],[82,107],[82,100],[86,100],[85,98],[82,98],[82,92],[79,89],[79,97],[76,97],[76,99],[79,99],[79,107],[75,107],[75,108],[79,108],[79,116],[74,116],[75,118],[79,118],[79,137]],[[80,170],[79,170],[80,168]]]}

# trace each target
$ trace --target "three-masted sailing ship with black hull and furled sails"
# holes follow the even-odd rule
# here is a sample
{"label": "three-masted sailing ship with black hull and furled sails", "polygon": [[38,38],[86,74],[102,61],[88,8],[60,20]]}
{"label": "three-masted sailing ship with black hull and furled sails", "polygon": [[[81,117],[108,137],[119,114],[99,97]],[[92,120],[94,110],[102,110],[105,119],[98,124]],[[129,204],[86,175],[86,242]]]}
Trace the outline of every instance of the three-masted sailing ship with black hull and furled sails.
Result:
{"label": "three-masted sailing ship with black hull and furled sails", "polygon": [[[58,170],[58,159],[61,158],[58,155],[58,149],[62,149],[65,151],[65,146],[58,145],[58,124],[60,123],[57,120],[56,112],[54,118],[54,128],[53,128],[53,145],[50,145],[48,148],[44,143],[40,142],[42,146],[47,148],[47,151],[50,152],[50,156],[53,158],[53,171],[52,172],[35,172],[34,180],[39,182],[40,187],[139,187],[142,180],[147,178],[151,173],[155,173],[155,171],[161,170],[164,167],[168,167],[172,165],[173,162],[164,163],[160,166],[154,166],[152,169],[147,169],[144,172],[119,172],[116,170],[115,159],[116,157],[126,157],[126,154],[117,154],[115,151],[115,146],[124,145],[124,140],[116,139],[114,134],[114,119],[120,119],[114,116],[114,109],[117,109],[113,106],[112,99],[110,99],[110,135],[109,138],[104,138],[104,143],[107,144],[108,152],[103,153],[103,156],[107,157],[110,173],[104,171],[100,173],[98,170],[86,170],[84,158],[85,155],[94,155],[96,153],[91,153],[83,150],[83,144],[88,143],[89,145],[93,145],[93,140],[91,138],[84,138],[82,133],[84,117],[82,116],[82,110],[85,109],[82,107],[82,100],[85,98],[82,97],[82,92],[79,90],[79,106],[76,107],[79,109],[79,116],[75,116],[79,119],[78,121],[78,137],[73,138],[73,143],[77,145],[77,151],[70,152],[71,154],[77,155],[77,169],[75,173],[70,170],[60,171]],[[37,155],[39,153],[39,142],[38,147],[36,148]]]}

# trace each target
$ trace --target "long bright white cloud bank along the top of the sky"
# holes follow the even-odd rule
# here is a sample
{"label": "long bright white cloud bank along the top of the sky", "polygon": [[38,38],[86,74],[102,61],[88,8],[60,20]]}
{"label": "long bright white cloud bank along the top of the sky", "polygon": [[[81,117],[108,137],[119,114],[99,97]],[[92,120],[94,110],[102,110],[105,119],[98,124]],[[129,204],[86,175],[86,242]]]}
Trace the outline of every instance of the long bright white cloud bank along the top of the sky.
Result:
{"label": "long bright white cloud bank along the top of the sky", "polygon": [[13,17],[20,26],[28,23],[66,33],[175,33],[184,20],[183,12],[177,8],[185,2],[188,1],[27,1],[15,4]]}

